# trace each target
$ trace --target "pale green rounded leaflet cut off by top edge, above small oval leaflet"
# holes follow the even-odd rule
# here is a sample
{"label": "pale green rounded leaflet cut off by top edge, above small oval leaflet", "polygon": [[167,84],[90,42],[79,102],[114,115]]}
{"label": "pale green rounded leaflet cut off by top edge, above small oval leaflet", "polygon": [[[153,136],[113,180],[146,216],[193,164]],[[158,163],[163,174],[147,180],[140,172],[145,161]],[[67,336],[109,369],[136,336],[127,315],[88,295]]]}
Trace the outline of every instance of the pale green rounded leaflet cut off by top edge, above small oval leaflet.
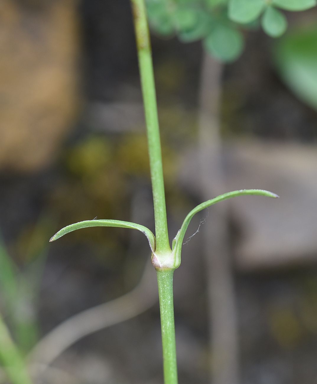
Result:
{"label": "pale green rounded leaflet cut off by top edge, above small oval leaflet", "polygon": [[250,23],[256,20],[266,7],[264,0],[230,0],[228,15],[237,23]]}

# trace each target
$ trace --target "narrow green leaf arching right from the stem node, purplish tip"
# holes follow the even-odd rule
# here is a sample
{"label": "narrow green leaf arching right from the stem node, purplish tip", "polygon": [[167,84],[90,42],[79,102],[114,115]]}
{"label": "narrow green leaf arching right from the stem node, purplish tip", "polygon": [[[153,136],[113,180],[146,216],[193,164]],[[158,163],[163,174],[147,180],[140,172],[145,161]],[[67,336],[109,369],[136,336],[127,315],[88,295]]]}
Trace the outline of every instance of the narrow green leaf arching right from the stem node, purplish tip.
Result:
{"label": "narrow green leaf arching right from the stem node, purplish tip", "polygon": [[266,197],[273,197],[273,198],[279,197],[278,195],[276,195],[272,192],[263,190],[263,189],[241,189],[241,190],[237,190],[237,191],[233,191],[233,192],[224,193],[222,195],[215,197],[214,199],[207,200],[207,201],[197,205],[197,207],[195,207],[193,210],[191,210],[189,212],[189,214],[186,216],[186,218],[185,218],[185,220],[181,226],[181,229],[178,231],[178,233],[174,239],[174,242],[173,242],[174,243],[173,244],[174,245],[173,251],[175,252],[176,258],[178,258],[179,262],[180,262],[180,258],[181,258],[181,250],[182,250],[184,236],[185,236],[186,230],[188,228],[188,225],[191,222],[191,219],[194,217],[194,215],[197,214],[198,212],[200,212],[201,210],[208,208],[211,205],[219,203],[223,200],[227,200],[227,199],[231,199],[232,197],[243,196],[243,195],[256,195],[256,196],[266,196]]}

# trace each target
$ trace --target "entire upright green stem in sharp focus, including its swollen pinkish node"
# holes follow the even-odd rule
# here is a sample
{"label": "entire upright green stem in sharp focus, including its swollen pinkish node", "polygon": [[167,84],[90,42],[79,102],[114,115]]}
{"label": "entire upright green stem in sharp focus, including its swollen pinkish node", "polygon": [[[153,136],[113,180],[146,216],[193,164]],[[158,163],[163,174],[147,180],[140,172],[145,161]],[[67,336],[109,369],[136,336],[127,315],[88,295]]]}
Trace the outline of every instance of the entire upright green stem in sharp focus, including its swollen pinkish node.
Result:
{"label": "entire upright green stem in sharp focus, including its swollen pinkish node", "polygon": [[[163,179],[161,140],[159,136],[158,111],[155,94],[151,43],[144,0],[131,0],[136,46],[138,50],[141,88],[148,136],[148,151],[151,168],[151,181],[154,202],[156,249],[153,259],[157,260],[159,306],[163,344],[164,383],[177,384],[176,343],[173,306],[174,268],[160,268],[170,262],[174,255],[168,239],[166,205]],[[172,260],[173,261],[173,260]],[[161,263],[162,262],[162,263]],[[171,263],[173,265],[173,262]]]}

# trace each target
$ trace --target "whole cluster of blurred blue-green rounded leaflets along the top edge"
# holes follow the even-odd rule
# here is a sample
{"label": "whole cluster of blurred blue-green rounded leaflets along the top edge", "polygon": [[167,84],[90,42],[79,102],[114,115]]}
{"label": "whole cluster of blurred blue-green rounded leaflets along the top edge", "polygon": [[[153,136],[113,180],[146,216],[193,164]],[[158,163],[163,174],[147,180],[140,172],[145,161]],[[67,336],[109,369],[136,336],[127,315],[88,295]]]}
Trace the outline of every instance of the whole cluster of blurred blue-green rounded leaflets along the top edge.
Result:
{"label": "whole cluster of blurred blue-green rounded leaflets along the top edge", "polygon": [[[207,52],[231,62],[244,47],[242,30],[261,25],[267,35],[279,37],[287,28],[277,8],[302,11],[316,0],[147,0],[149,22],[161,36],[177,35],[183,42],[202,40]],[[250,25],[251,23],[251,25]]]}

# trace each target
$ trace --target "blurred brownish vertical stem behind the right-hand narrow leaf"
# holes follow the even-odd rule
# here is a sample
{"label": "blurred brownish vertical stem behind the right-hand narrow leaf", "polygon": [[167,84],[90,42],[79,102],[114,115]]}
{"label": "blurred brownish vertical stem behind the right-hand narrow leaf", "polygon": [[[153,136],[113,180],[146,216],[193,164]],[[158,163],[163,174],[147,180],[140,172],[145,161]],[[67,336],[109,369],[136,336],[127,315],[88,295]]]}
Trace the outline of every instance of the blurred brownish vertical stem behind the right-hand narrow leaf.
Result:
{"label": "blurred brownish vertical stem behind the right-hand narrow leaf", "polygon": [[[199,96],[201,194],[206,200],[225,188],[221,162],[220,96],[223,64],[204,52]],[[226,205],[216,204],[204,230],[212,384],[238,384],[236,298],[230,261]]]}

